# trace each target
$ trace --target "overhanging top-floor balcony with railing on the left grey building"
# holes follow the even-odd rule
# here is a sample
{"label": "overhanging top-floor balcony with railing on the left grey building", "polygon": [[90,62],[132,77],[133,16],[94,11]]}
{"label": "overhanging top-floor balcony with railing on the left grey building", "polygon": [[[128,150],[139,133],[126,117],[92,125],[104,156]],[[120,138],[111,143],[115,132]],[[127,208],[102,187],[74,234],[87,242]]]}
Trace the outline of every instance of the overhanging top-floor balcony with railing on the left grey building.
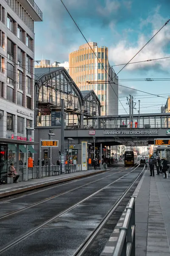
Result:
{"label": "overhanging top-floor balcony with railing on the left grey building", "polygon": [[42,12],[34,0],[19,0],[34,21],[42,21]]}

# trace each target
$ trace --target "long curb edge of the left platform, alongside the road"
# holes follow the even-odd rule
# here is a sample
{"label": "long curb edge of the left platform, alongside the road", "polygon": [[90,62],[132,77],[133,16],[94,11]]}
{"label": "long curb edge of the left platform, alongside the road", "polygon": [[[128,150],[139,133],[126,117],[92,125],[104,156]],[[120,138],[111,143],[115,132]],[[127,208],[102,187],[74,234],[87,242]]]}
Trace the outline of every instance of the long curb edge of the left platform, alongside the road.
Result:
{"label": "long curb edge of the left platform, alongside the road", "polygon": [[91,175],[94,175],[94,174],[106,172],[107,170],[108,169],[100,170],[100,171],[96,171],[96,172],[91,172],[91,173],[86,173],[86,174],[83,174],[83,175],[77,175],[77,176],[73,176],[73,177],[67,177],[67,178],[63,178],[61,180],[54,180],[54,181],[50,181],[50,182],[46,182],[46,183],[40,183],[40,184],[37,184],[37,185],[28,185],[28,187],[16,188],[16,189],[13,189],[11,191],[8,190],[8,191],[0,193],[0,198],[7,197],[9,195],[20,194],[22,192],[26,192],[26,191],[30,191],[30,190],[34,190],[34,189],[39,189],[39,188],[46,187],[46,186],[51,186],[51,185],[54,185],[54,184],[57,184],[57,183],[65,182],[65,181],[80,179],[82,177],[87,177],[87,176],[91,176]]}

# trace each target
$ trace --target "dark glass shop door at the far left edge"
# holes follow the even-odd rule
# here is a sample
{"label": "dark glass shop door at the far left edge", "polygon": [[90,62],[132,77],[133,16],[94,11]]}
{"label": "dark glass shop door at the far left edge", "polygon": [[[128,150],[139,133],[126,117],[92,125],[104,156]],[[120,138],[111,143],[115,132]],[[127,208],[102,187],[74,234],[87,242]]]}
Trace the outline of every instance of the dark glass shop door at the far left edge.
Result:
{"label": "dark glass shop door at the far left edge", "polygon": [[0,144],[0,178],[8,172],[8,146]]}

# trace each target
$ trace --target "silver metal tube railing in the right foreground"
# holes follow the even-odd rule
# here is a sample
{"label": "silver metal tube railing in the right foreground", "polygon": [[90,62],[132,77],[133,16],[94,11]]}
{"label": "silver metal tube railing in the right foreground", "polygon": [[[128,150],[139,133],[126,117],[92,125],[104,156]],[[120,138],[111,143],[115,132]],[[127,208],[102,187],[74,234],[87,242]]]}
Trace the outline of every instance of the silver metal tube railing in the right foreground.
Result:
{"label": "silver metal tube railing in the right foreground", "polygon": [[135,198],[130,199],[112,256],[135,256]]}

